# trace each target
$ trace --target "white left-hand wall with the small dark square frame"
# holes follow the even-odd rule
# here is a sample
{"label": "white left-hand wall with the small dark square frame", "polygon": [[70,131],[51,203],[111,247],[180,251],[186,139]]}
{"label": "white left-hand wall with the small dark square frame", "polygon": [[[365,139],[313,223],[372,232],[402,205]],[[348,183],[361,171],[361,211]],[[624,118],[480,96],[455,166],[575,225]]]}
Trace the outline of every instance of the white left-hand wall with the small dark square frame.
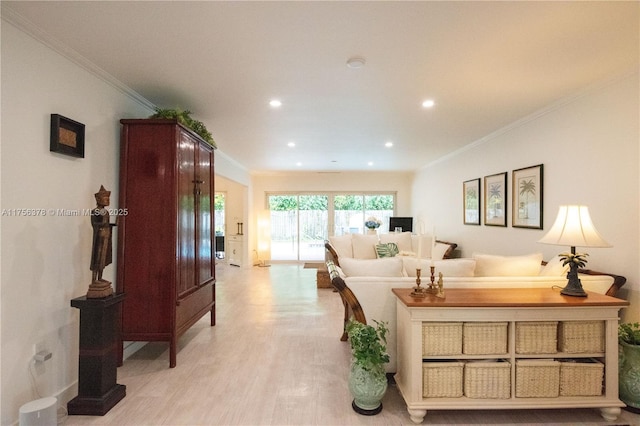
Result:
{"label": "white left-hand wall with the small dark square frame", "polygon": [[[29,377],[35,345],[53,353],[33,369],[38,392],[76,392],[68,388],[78,374],[79,312],[70,300],[86,294],[91,281],[92,231],[88,216],[52,209],[95,207],[100,185],[111,190],[116,207],[118,120],[150,112],[148,104],[2,22],[2,424],[36,398]],[[49,152],[51,113],[85,124],[85,158]],[[47,215],[10,214],[19,208]],[[115,264],[107,266],[104,277],[114,276]]]}

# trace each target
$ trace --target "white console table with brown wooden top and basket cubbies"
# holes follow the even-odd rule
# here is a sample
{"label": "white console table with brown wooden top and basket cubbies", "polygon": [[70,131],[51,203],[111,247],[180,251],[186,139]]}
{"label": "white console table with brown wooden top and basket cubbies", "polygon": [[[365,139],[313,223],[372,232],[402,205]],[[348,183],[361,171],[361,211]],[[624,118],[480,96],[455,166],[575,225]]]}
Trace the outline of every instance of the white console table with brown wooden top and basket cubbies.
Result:
{"label": "white console table with brown wooden top and basket cubbies", "polygon": [[[600,408],[614,421],[624,403],[618,399],[618,312],[629,303],[596,293],[588,297],[563,296],[559,290],[446,289],[445,298],[411,297],[411,289],[394,288],[397,296],[398,367],[395,375],[411,420],[421,423],[430,409]],[[539,321],[603,321],[604,352],[521,354],[516,351],[516,325]],[[491,355],[423,355],[423,323],[507,322],[507,350]],[[423,362],[429,360],[502,359],[511,364],[510,397],[475,399],[423,397]],[[516,361],[523,359],[596,358],[604,364],[604,390],[596,396],[517,397]]]}

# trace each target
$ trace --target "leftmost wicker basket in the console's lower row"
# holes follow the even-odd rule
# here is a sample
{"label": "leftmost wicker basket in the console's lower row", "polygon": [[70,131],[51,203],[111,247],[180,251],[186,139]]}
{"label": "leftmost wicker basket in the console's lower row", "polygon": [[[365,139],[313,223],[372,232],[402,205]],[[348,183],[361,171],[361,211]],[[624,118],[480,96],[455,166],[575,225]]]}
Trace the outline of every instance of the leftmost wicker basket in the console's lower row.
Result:
{"label": "leftmost wicker basket in the console's lower row", "polygon": [[422,364],[422,396],[424,398],[458,398],[462,396],[464,363],[429,361]]}

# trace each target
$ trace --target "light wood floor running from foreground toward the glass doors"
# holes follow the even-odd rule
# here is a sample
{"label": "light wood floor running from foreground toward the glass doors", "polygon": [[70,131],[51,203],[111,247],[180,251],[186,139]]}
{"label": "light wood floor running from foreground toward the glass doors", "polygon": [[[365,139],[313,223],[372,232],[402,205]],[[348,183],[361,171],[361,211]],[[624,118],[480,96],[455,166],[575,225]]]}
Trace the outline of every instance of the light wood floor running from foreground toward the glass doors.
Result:
{"label": "light wood floor running from foreground toward the glass doors", "polygon": [[[65,425],[411,425],[390,386],[377,416],[351,409],[342,304],[317,289],[302,265],[218,265],[217,325],[208,315],[180,340],[178,365],[152,343],[125,360],[127,396],[105,416],[69,416]],[[623,410],[607,423],[597,410],[430,411],[424,424],[640,424]]]}

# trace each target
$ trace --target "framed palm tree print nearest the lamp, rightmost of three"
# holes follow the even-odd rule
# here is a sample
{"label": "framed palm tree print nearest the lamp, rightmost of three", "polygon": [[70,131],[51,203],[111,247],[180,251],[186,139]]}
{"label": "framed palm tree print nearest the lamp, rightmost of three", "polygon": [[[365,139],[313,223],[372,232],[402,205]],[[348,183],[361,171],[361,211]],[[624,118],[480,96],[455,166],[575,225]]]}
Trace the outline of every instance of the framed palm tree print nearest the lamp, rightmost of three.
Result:
{"label": "framed palm tree print nearest the lamp, rightmost of three", "polygon": [[514,228],[542,229],[542,166],[513,171],[511,224]]}

